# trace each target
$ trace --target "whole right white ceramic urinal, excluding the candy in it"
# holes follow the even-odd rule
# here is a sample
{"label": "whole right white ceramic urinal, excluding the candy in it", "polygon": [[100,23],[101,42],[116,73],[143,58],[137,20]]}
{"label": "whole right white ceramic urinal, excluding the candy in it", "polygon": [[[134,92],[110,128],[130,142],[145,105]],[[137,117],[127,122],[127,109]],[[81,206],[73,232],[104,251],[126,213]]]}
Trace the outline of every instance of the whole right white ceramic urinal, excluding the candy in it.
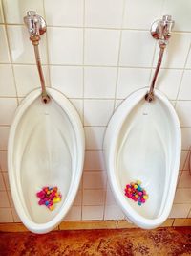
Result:
{"label": "whole right white ceramic urinal, excluding the candy in it", "polygon": [[[141,228],[158,227],[171,211],[180,165],[180,122],[158,90],[152,103],[147,90],[130,95],[111,118],[104,158],[111,189],[127,219]],[[125,197],[126,184],[140,180],[149,198],[141,206]]]}

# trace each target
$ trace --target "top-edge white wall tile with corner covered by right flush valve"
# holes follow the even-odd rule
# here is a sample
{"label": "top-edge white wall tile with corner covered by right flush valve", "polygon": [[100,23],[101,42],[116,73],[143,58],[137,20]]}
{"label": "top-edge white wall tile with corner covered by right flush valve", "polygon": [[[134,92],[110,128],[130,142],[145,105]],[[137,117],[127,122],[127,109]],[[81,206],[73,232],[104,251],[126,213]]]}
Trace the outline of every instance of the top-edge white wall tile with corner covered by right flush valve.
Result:
{"label": "top-edge white wall tile with corner covered by right flush valve", "polygon": [[127,0],[124,28],[150,30],[152,23],[161,18],[163,0]]}

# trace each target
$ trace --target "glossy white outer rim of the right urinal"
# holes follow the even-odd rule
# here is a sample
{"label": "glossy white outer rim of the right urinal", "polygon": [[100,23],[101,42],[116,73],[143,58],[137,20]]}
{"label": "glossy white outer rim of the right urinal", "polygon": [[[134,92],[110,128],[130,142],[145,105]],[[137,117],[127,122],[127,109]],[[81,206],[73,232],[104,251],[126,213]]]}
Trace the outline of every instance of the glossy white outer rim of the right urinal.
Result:
{"label": "glossy white outer rim of the right urinal", "polygon": [[155,96],[159,98],[160,101],[162,101],[169,109],[169,112],[172,116],[173,123],[176,128],[176,137],[177,137],[177,155],[175,155],[175,164],[174,164],[174,170],[176,171],[176,174],[173,175],[171,178],[170,186],[168,192],[170,193],[170,196],[168,198],[168,204],[164,204],[164,208],[162,213],[159,217],[156,219],[147,219],[142,216],[140,216],[127,202],[126,198],[124,198],[123,195],[121,195],[121,192],[117,186],[116,181],[116,175],[115,175],[115,166],[116,166],[116,155],[117,155],[117,135],[119,134],[120,128],[123,125],[124,120],[129,115],[129,113],[132,111],[132,109],[135,107],[135,105],[138,104],[138,102],[143,99],[146,92],[148,91],[148,88],[144,87],[141,89],[138,89],[137,91],[133,92],[131,95],[129,95],[122,103],[117,107],[116,112],[111,117],[108,127],[105,132],[104,136],[104,142],[103,142],[103,151],[104,151],[104,158],[106,163],[106,169],[109,177],[109,181],[111,184],[111,189],[114,193],[115,198],[117,199],[118,204],[122,208],[122,211],[125,213],[125,215],[128,217],[128,219],[134,223],[136,223],[139,227],[142,228],[155,228],[159,226],[163,221],[165,221],[170,213],[170,210],[172,208],[172,203],[175,195],[176,185],[177,184],[177,178],[179,175],[179,165],[180,165],[180,151],[181,151],[181,132],[180,132],[180,121],[177,116],[177,113],[173,107],[173,105],[169,102],[167,97],[161,93],[159,90],[155,90]]}

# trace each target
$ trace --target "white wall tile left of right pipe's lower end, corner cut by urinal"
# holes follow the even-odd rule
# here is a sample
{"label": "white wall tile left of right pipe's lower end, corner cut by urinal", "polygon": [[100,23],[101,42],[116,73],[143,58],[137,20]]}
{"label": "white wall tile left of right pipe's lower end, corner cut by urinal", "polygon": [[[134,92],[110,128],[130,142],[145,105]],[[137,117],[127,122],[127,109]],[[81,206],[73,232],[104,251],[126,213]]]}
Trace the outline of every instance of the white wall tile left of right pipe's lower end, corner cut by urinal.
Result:
{"label": "white wall tile left of right pipe's lower end, corner cut by urinal", "polygon": [[119,68],[117,81],[117,99],[125,99],[139,88],[149,86],[150,69]]}

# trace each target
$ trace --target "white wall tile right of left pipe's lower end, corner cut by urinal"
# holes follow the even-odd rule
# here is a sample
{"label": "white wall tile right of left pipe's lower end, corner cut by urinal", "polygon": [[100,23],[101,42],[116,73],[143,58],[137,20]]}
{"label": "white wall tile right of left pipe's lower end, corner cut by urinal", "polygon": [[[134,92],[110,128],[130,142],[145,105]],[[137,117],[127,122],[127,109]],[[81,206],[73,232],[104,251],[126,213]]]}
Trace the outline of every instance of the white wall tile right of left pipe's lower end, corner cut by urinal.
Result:
{"label": "white wall tile right of left pipe's lower end, corner cut by urinal", "polygon": [[68,98],[83,98],[82,67],[51,66],[51,84]]}

